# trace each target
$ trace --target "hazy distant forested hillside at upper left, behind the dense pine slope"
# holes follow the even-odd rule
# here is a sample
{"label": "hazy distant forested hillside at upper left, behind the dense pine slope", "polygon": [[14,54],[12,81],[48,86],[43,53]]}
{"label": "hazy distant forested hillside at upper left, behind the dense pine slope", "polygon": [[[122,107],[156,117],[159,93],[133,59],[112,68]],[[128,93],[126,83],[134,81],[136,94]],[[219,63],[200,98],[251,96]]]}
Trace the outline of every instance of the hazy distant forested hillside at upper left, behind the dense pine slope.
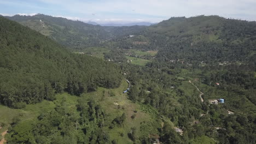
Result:
{"label": "hazy distant forested hillside at upper left, behind the dense pine slope", "polygon": [[71,50],[102,46],[107,40],[137,33],[145,28],[144,26],[102,27],[43,14],[34,16],[15,15],[7,16],[7,18],[47,35]]}

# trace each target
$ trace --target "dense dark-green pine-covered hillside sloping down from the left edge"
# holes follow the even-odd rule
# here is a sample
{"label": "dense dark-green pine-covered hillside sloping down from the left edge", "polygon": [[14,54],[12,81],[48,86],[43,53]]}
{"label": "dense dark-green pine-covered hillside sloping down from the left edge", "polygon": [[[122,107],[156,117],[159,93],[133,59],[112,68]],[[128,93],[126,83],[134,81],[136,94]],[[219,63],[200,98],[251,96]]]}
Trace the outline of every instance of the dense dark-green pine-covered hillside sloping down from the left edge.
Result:
{"label": "dense dark-green pine-covered hillside sloping down from the left edge", "polygon": [[48,37],[0,17],[0,101],[20,108],[55,93],[80,95],[120,84],[120,70],[91,56],[75,55]]}

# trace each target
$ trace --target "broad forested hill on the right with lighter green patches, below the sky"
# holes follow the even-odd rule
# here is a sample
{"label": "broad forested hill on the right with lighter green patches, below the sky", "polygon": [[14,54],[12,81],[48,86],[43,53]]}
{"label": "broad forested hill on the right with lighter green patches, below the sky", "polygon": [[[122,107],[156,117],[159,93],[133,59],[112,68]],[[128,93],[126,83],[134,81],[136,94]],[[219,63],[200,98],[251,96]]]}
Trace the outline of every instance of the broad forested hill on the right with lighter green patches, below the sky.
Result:
{"label": "broad forested hill on the right with lighter green patches, below the sky", "polygon": [[219,16],[172,17],[117,44],[123,49],[159,50],[158,57],[165,61],[254,64],[256,23]]}

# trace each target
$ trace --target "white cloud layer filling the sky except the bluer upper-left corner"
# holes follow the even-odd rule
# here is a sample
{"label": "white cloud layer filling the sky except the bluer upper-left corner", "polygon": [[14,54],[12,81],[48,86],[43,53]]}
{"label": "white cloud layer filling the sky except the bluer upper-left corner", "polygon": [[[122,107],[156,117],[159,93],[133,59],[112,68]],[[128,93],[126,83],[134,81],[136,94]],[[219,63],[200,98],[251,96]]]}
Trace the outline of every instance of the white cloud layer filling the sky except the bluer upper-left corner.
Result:
{"label": "white cloud layer filling the sky except the bluer upper-left corner", "polygon": [[[241,19],[256,20],[255,0],[98,0],[67,1],[38,0],[40,2],[61,5],[72,13],[96,16],[99,19],[144,19],[150,16],[167,19],[171,16],[220,15]],[[96,15],[91,15],[96,14]],[[131,16],[127,16],[131,15]],[[139,17],[141,15],[141,17]],[[92,17],[90,17],[92,18]],[[156,21],[156,19],[150,19]]]}

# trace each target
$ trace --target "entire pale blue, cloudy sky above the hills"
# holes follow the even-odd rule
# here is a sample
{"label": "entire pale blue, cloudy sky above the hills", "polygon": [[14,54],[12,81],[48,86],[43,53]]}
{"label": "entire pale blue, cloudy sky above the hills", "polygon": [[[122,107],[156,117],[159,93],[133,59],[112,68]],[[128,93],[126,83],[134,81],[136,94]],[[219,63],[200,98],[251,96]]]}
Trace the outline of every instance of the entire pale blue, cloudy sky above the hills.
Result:
{"label": "entire pale blue, cloudy sky above the hills", "polygon": [[256,0],[0,0],[0,15],[38,13],[97,23],[160,22],[196,15],[256,21]]}

